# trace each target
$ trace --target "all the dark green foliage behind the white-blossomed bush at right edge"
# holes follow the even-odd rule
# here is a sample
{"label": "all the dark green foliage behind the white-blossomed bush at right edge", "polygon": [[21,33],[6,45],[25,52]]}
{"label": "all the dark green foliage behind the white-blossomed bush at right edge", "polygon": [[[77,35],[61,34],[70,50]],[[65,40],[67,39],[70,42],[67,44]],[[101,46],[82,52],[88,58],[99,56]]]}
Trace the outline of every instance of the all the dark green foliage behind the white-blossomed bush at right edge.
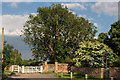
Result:
{"label": "all the dark green foliage behind the white-blossomed bush at right edge", "polygon": [[[109,36],[109,37],[108,37]],[[120,56],[120,20],[111,24],[111,29],[107,33],[100,33],[98,35],[98,41],[108,45],[113,49],[114,53]],[[120,66],[120,58],[118,57],[113,66],[119,67]]]}

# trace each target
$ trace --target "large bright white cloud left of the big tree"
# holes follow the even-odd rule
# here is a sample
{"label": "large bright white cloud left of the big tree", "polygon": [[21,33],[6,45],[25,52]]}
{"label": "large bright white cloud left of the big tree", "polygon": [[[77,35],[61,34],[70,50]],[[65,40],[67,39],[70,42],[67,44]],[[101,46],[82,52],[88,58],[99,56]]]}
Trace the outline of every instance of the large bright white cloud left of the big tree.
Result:
{"label": "large bright white cloud left of the big tree", "polygon": [[[18,36],[21,34],[21,30],[28,15],[2,15],[2,26],[5,28],[5,35]],[[1,33],[0,33],[1,34]]]}

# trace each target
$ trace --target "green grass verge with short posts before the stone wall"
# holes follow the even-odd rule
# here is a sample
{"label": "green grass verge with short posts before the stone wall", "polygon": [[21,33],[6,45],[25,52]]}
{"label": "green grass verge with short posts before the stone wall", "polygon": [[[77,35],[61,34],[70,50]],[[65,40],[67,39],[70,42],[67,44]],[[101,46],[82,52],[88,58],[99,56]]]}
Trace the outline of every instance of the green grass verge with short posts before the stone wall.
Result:
{"label": "green grass verge with short posts before the stone wall", "polygon": [[[71,80],[70,73],[63,73],[63,77],[61,77],[61,73],[57,73],[56,75],[54,75],[54,77],[62,78],[64,80]],[[85,80],[85,75],[73,73],[72,80]],[[101,80],[101,79],[88,75],[87,80]]]}

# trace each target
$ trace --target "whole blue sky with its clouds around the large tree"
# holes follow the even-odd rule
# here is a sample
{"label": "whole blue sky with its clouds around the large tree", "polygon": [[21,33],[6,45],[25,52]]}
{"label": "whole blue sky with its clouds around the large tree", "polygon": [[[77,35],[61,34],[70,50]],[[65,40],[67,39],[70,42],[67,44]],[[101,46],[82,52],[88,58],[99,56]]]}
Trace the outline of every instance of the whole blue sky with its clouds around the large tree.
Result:
{"label": "whole blue sky with its clouds around the large tree", "polygon": [[22,0],[15,0],[11,2],[11,0],[4,0],[0,3],[2,4],[2,7],[0,7],[0,23],[2,25],[0,29],[2,30],[2,27],[5,28],[5,41],[14,46],[15,49],[18,49],[22,53],[23,59],[33,58],[30,47],[24,43],[23,37],[20,37],[21,30],[28,20],[28,16],[37,13],[38,7],[48,7],[54,3],[67,6],[73,14],[78,17],[84,17],[89,22],[94,23],[98,30],[95,36],[97,38],[99,33],[107,33],[111,28],[110,25],[118,20],[118,0],[114,2],[113,0],[109,0],[109,2],[103,2],[102,0],[99,2],[97,0],[91,2],[85,1],[76,0],[74,2],[66,2],[63,0],[62,2],[54,2],[53,0],[51,2],[38,2],[34,0],[33,2],[32,0],[28,0],[28,2],[24,2]]}

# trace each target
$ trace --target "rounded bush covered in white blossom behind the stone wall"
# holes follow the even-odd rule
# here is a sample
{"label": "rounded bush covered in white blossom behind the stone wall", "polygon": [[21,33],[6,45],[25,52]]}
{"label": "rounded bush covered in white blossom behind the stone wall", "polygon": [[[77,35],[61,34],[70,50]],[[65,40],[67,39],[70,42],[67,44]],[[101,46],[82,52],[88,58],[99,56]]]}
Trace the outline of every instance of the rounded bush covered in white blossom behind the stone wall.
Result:
{"label": "rounded bush covered in white blossom behind the stone wall", "polygon": [[115,61],[116,55],[107,45],[100,42],[81,42],[73,58],[76,66],[105,67],[106,60],[110,65]]}

